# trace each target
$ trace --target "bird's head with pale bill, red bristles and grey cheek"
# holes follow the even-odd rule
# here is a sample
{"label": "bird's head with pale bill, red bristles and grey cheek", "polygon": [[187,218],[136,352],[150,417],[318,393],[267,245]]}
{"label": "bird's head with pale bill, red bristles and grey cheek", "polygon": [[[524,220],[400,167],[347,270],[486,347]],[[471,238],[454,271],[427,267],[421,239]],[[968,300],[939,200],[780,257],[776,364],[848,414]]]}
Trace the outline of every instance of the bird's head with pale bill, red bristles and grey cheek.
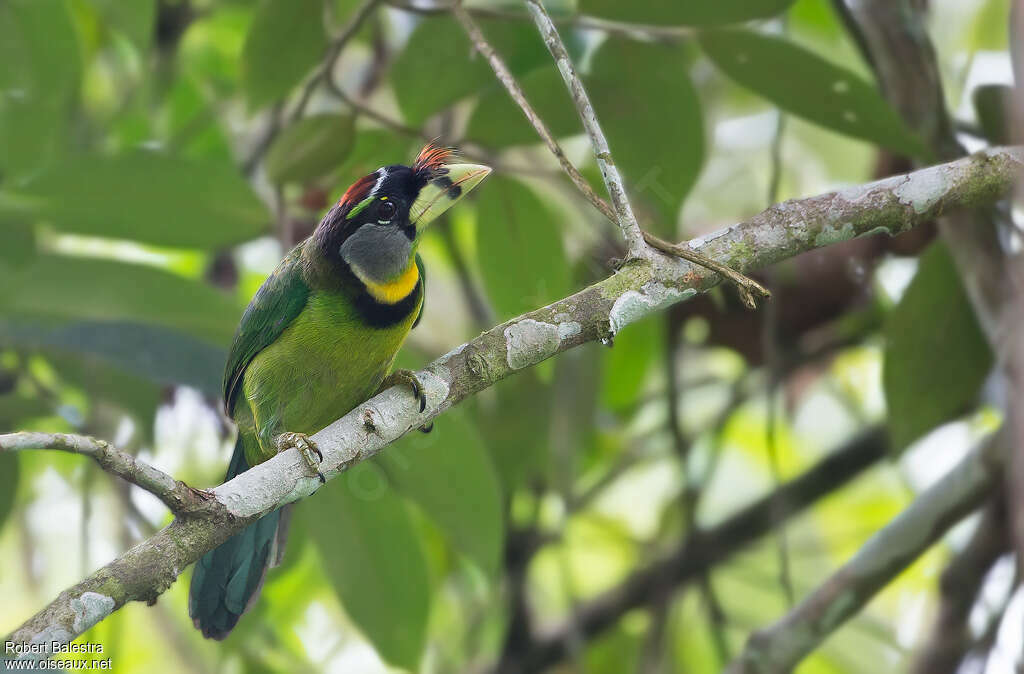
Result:
{"label": "bird's head with pale bill, red bristles and grey cheek", "polygon": [[313,233],[319,252],[364,283],[400,277],[427,225],[490,173],[451,159],[449,150],[428,144],[412,166],[383,166],[356,180]]}

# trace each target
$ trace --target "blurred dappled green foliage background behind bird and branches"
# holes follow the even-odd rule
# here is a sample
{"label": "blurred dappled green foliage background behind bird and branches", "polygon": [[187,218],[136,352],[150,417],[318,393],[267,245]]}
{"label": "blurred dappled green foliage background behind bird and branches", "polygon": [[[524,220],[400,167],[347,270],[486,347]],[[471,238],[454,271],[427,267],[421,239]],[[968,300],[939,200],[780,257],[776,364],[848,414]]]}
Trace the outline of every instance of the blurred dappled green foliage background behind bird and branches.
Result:
{"label": "blurred dappled green foliage background behind bird and branches", "polygon": [[[424,243],[426,313],[401,366],[609,272],[617,231],[442,5],[380,3],[325,72],[359,4],[0,1],[0,432],[89,433],[216,483],[233,432],[219,382],[249,298],[352,180],[427,139],[496,172]],[[603,191],[520,4],[466,4]],[[972,149],[1007,137],[1009,4],[931,2]],[[662,236],[932,160],[826,0],[548,6]],[[117,671],[485,670],[522,645],[524,603],[536,629],[571,636],[594,597],[697,528],[886,427],[889,459],[699,583],[577,634],[560,670],[718,671],[785,609],[787,584],[813,588],[999,423],[980,394],[991,354],[929,231],[790,261],[758,313],[717,290],[451,411],[298,506],[284,566],[224,642],[193,629],[187,574],[82,639]],[[0,457],[0,631],[168,519],[83,459]],[[800,671],[905,669],[965,535]]]}

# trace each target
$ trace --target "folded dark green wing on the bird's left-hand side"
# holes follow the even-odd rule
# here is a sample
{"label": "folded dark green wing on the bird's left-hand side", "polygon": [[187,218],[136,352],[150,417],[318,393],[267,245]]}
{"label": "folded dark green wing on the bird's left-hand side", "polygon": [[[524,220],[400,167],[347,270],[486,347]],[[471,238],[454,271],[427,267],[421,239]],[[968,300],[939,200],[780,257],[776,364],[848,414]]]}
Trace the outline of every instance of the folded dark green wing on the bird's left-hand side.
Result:
{"label": "folded dark green wing on the bird's left-hand side", "polygon": [[246,367],[257,353],[272,344],[306,306],[310,291],[302,279],[301,253],[300,244],[285,256],[242,314],[224,369],[224,410],[228,416]]}

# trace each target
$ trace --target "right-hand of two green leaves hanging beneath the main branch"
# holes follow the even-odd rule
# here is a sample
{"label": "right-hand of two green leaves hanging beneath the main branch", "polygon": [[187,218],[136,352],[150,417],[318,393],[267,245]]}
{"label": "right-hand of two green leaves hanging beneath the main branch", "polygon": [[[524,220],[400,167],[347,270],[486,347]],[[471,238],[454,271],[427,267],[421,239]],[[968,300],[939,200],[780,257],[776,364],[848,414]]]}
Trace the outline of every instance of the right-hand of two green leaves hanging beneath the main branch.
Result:
{"label": "right-hand of two green leaves hanging beneath the main branch", "polygon": [[457,550],[494,576],[505,546],[502,485],[465,413],[411,433],[378,459],[391,483],[423,508]]}

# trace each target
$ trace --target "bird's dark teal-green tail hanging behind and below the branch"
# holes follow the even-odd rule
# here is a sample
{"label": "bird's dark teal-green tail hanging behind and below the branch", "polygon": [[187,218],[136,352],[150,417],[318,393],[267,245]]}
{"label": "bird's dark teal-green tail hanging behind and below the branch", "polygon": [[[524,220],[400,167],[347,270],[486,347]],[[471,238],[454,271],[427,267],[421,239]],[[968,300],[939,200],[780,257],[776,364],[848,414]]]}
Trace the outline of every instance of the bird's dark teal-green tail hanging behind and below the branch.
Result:
{"label": "bird's dark teal-green tail hanging behind and below the branch", "polygon": [[[246,470],[249,465],[240,437],[224,480]],[[196,562],[188,615],[203,636],[223,639],[259,594],[266,570],[276,565],[284,551],[286,515],[285,508],[274,510]]]}

